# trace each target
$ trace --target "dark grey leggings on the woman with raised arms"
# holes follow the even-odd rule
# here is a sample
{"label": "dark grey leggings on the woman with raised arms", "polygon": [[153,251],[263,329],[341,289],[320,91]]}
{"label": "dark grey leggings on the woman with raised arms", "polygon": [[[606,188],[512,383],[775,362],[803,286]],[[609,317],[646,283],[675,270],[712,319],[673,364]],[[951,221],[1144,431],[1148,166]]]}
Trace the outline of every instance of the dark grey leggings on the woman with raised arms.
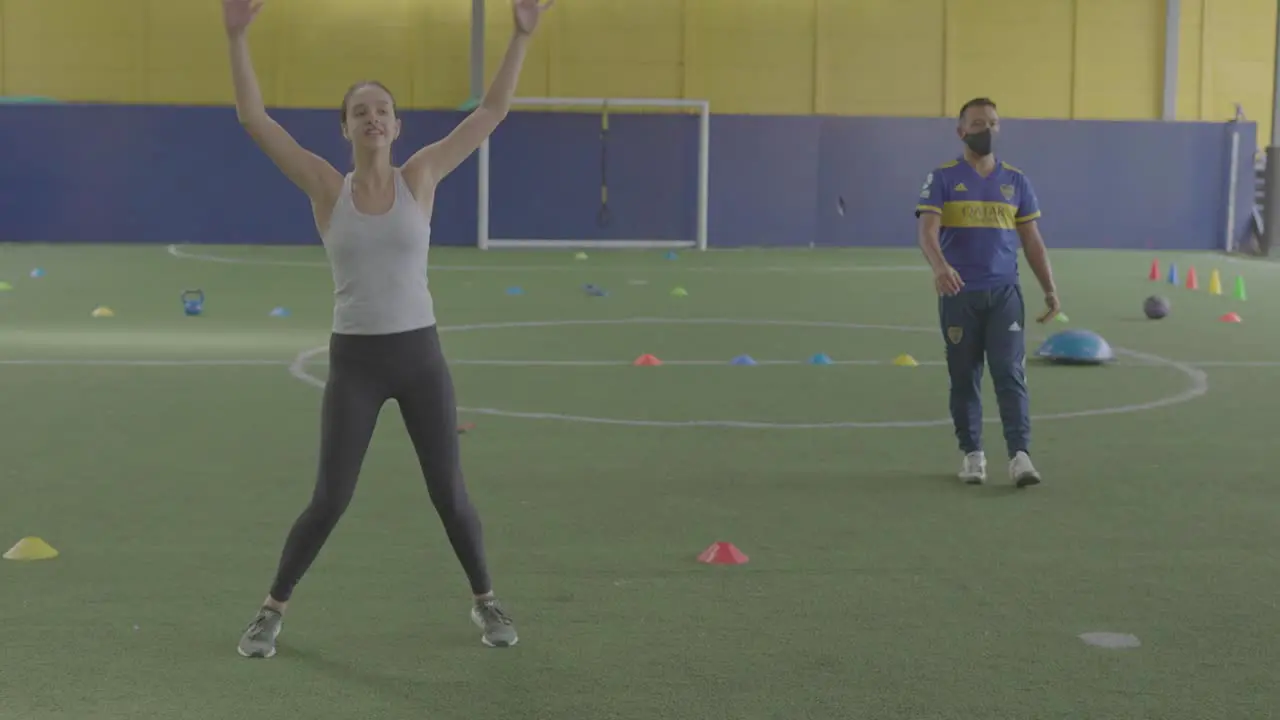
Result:
{"label": "dark grey leggings on the woman with raised arms", "polygon": [[351,503],[378,414],[388,400],[399,405],[431,503],[471,592],[490,591],[480,518],[462,479],[453,379],[431,325],[394,334],[332,336],[320,416],[320,470],[311,503],[284,542],[273,598],[289,600]]}

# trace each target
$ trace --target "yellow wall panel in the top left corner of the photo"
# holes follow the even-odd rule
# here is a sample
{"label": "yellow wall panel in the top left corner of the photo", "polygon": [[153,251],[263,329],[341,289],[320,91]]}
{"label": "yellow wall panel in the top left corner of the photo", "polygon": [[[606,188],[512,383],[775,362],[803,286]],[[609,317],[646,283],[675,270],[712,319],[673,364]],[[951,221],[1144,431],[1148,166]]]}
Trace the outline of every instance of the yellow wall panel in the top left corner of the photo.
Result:
{"label": "yellow wall panel in the top left corner of the photo", "polygon": [[5,92],[146,100],[143,0],[5,0]]}

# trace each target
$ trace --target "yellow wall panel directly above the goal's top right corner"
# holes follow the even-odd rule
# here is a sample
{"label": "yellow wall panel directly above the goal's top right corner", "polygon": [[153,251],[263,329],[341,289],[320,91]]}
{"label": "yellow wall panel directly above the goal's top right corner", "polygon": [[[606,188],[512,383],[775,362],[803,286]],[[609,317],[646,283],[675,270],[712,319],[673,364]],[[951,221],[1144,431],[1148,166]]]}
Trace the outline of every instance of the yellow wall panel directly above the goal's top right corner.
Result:
{"label": "yellow wall panel directly above the goal's top right corner", "polygon": [[814,111],[817,0],[685,4],[685,96],[719,113]]}

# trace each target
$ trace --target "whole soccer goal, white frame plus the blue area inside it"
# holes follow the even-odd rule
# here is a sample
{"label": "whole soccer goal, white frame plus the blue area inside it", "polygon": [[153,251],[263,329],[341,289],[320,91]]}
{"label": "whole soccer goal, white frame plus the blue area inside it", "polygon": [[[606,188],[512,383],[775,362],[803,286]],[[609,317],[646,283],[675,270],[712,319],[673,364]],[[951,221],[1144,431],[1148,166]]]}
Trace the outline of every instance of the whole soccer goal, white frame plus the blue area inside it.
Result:
{"label": "whole soccer goal, white frame plus the blue area inside it", "polygon": [[480,146],[481,250],[707,250],[710,104],[517,97]]}

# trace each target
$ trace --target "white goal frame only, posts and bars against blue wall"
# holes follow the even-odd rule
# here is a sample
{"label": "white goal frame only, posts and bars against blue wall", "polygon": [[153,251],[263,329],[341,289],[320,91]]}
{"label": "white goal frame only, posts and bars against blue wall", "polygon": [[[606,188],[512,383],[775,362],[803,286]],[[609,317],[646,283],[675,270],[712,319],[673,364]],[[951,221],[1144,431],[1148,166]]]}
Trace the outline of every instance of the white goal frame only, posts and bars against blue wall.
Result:
{"label": "white goal frame only, posts and bars against blue wall", "polygon": [[480,250],[503,247],[617,247],[617,249],[655,249],[655,247],[696,247],[707,250],[707,208],[708,183],[710,179],[710,126],[712,110],[707,100],[669,100],[640,97],[516,97],[511,101],[517,108],[691,108],[699,111],[698,123],[698,225],[694,240],[517,240],[494,238],[489,236],[489,140],[480,145],[480,172],[477,205],[480,222],[476,225],[476,247]]}

